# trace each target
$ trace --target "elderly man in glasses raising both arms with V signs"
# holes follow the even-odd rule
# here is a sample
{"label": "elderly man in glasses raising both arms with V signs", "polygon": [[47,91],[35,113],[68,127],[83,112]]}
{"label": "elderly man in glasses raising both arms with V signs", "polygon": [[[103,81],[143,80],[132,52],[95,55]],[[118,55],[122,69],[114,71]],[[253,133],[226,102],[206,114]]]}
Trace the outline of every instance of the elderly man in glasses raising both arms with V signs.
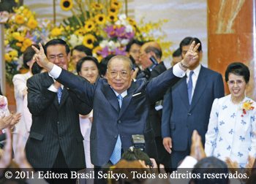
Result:
{"label": "elderly man in glasses raising both arms with V signs", "polygon": [[145,79],[132,80],[132,61],[127,56],[116,55],[108,62],[108,80],[99,79],[91,84],[83,77],[50,63],[40,47],[36,51],[36,61],[53,77],[78,98],[86,101],[94,109],[91,127],[91,162],[103,166],[111,161],[116,164],[121,158],[121,149],[132,146],[132,134],[144,134],[146,153],[156,157],[154,132],[149,121],[150,104],[160,99],[167,88],[180,80],[190,66],[197,60],[197,47],[191,45],[184,60],[154,78],[149,83]]}

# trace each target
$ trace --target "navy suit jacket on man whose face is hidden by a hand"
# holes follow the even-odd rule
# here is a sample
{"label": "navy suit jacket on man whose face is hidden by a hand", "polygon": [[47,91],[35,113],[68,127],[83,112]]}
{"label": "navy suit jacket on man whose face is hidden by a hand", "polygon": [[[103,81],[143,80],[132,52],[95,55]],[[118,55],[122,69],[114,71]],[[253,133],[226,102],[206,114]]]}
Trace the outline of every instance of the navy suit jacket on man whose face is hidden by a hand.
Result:
{"label": "navy suit jacket on man whose face is hidden by a hand", "polygon": [[170,88],[164,98],[162,110],[162,137],[171,137],[174,151],[191,147],[192,132],[196,129],[205,143],[211,105],[224,96],[222,75],[201,67],[191,105],[187,93],[186,77]]}

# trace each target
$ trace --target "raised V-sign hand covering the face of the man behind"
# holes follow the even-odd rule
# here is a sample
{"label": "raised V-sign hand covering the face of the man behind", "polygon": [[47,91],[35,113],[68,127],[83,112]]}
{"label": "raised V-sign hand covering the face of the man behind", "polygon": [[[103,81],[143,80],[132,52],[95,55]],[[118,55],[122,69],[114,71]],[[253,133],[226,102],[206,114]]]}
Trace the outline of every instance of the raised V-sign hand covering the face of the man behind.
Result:
{"label": "raised V-sign hand covering the face of the man behind", "polygon": [[189,47],[189,50],[187,51],[186,55],[184,56],[184,59],[182,61],[182,63],[185,66],[192,66],[195,61],[197,61],[198,59],[198,54],[197,54],[197,48],[200,46],[200,43],[198,43],[197,45],[195,45],[195,41],[192,42],[192,44]]}

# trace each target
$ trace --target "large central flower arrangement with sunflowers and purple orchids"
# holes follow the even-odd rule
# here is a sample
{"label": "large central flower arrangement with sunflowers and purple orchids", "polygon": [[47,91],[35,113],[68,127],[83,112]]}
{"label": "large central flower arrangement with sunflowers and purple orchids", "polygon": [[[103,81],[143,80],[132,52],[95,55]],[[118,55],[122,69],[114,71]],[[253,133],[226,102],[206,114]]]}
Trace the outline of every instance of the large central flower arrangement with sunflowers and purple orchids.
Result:
{"label": "large central flower arrangement with sunflowers and purple orchids", "polygon": [[[71,47],[85,45],[92,49],[93,56],[99,61],[109,54],[125,55],[130,39],[142,42],[157,41],[163,49],[163,57],[171,55],[170,42],[161,42],[166,34],[158,23],[143,23],[141,26],[121,13],[121,2],[117,0],[99,0],[89,3],[86,0],[61,0],[61,8],[72,11],[59,28],[51,31],[52,38],[65,39]],[[158,35],[155,33],[159,33]]]}

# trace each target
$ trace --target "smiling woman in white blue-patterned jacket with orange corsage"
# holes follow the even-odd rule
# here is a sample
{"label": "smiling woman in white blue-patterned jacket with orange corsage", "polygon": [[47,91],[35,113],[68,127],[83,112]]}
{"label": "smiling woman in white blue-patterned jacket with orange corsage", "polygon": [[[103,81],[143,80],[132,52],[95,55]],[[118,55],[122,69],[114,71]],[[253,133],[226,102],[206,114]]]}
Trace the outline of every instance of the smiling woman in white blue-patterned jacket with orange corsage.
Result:
{"label": "smiling woman in white blue-patterned jacket with orange corsage", "polygon": [[206,156],[230,158],[244,168],[248,156],[256,156],[256,104],[245,95],[249,69],[242,63],[227,66],[225,80],[230,95],[215,99],[206,132]]}

